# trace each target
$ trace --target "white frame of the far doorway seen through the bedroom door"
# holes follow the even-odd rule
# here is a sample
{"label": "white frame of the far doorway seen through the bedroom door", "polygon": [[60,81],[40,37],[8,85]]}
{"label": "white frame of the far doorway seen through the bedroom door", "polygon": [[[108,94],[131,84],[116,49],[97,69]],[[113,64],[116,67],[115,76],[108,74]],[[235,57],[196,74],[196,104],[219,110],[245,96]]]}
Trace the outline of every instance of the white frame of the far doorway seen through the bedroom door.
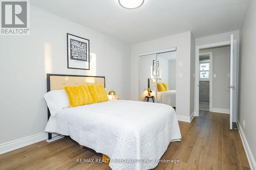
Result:
{"label": "white frame of the far doorway seen through the bedroom door", "polygon": [[[209,55],[209,57],[210,57],[210,68],[209,68],[209,85],[210,85],[210,87],[209,87],[209,111],[212,112],[212,52],[199,53],[199,56],[206,56],[206,55]],[[200,67],[200,65],[199,65],[199,67]],[[199,73],[200,73],[200,70],[199,70]],[[199,78],[199,76],[198,76],[198,78]],[[200,80],[200,78],[199,78],[199,80]],[[198,98],[198,100],[199,100],[199,98]]]}

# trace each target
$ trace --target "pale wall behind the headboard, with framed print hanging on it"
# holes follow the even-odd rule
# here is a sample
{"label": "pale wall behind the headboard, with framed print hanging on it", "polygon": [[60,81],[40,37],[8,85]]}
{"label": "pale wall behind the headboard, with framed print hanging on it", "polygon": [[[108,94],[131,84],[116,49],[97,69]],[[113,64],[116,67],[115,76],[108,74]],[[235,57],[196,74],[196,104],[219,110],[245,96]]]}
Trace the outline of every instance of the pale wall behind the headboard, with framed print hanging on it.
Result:
{"label": "pale wall behind the headboard, with framed print hanging on it", "polygon": [[[29,36],[0,37],[0,143],[44,131],[46,73],[105,76],[106,89],[131,98],[131,45],[30,7]],[[90,39],[91,70],[67,68],[67,33]]]}

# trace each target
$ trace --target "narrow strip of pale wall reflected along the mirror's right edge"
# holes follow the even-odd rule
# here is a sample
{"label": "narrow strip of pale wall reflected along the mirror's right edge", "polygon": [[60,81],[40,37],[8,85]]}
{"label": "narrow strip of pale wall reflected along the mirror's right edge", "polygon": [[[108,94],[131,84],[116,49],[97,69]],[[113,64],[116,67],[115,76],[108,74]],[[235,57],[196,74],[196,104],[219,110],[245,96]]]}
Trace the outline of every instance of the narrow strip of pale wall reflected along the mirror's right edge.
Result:
{"label": "narrow strip of pale wall reflected along the mirror's right edge", "polygon": [[169,82],[170,90],[176,90],[176,60],[169,60]]}

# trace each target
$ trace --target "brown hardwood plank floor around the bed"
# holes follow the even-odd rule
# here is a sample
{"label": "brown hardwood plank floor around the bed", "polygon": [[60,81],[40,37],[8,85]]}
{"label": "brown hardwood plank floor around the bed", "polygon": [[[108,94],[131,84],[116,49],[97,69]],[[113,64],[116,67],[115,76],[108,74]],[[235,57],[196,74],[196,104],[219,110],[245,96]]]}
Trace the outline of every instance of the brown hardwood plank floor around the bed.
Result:
{"label": "brown hardwood plank floor around the bed", "polygon": [[[180,163],[159,163],[155,169],[250,169],[238,130],[229,130],[228,114],[201,111],[193,122],[179,125],[181,142],[171,142],[161,159]],[[105,163],[77,163],[88,158],[101,154],[65,137],[0,155],[0,169],[111,169]]]}

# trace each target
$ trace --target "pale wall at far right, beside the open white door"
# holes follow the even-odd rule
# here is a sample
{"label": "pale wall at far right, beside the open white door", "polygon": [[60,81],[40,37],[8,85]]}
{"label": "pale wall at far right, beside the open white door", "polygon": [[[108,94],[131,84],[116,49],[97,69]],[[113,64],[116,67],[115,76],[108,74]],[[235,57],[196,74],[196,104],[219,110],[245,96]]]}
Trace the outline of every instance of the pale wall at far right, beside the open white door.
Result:
{"label": "pale wall at far right, beside the open white door", "polygon": [[[241,125],[241,131],[248,145],[245,147],[247,154],[250,155],[249,161],[253,162],[256,169],[256,135],[255,135],[255,63],[256,63],[256,1],[250,1],[245,18],[241,27],[241,45],[240,45],[240,81],[239,81],[239,102],[238,102],[238,122]],[[245,127],[243,127],[245,120]],[[250,151],[250,152],[248,152]]]}

